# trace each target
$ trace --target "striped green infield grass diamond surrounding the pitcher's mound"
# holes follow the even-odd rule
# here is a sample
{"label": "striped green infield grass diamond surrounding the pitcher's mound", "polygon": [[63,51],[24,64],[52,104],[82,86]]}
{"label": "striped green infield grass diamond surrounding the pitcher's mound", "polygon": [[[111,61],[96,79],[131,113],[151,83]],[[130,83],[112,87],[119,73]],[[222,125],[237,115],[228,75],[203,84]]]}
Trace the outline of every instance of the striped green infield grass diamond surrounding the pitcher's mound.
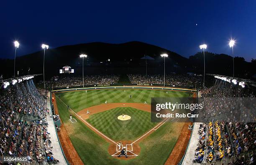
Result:
{"label": "striped green infield grass diamond surrounding the pitcher's mound", "polygon": [[[127,114],[131,116],[131,119],[126,121],[118,120],[117,117],[121,114]],[[156,124],[151,122],[151,114],[149,112],[131,107],[118,107],[92,114],[87,121],[115,141],[136,140]]]}

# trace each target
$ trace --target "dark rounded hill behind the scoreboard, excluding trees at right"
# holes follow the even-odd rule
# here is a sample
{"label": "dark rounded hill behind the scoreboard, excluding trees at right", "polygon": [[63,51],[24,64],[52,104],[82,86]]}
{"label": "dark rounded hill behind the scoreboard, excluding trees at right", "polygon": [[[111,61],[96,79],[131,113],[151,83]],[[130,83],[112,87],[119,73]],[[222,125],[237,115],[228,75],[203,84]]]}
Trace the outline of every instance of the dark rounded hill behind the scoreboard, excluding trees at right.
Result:
{"label": "dark rounded hill behind the scoreboard, excluding trees at right", "polygon": [[[83,43],[46,50],[45,71],[47,78],[58,75],[59,69],[63,66],[71,66],[75,69],[75,74],[81,75],[82,58],[79,58],[81,53],[88,56],[84,59],[85,74],[145,73],[145,60],[140,59],[144,55],[155,58],[155,60],[148,60],[148,73],[156,74],[160,71],[162,73],[164,59],[161,58],[160,54],[163,53],[169,55],[166,58],[166,70],[172,70],[171,66],[174,66],[174,64],[176,64],[175,71],[183,70],[189,65],[188,59],[177,53],[138,41],[121,44]],[[43,60],[43,50],[17,57],[16,71],[20,71],[20,75],[28,74],[30,68],[30,74],[43,73]],[[12,76],[13,60],[2,59],[0,63],[2,68],[0,74],[3,74],[4,77]]]}

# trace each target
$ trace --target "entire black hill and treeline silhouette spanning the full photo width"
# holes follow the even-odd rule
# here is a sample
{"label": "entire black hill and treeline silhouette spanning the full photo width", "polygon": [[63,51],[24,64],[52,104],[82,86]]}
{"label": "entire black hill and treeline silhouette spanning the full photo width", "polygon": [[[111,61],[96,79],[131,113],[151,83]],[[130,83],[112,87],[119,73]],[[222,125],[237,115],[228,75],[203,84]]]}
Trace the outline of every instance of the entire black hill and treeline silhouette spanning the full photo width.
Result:
{"label": "entire black hill and treeline silhouette spanning the full photo width", "polygon": [[[46,50],[45,74],[46,79],[52,76],[67,76],[59,74],[63,66],[71,66],[75,73],[72,76],[82,75],[81,53],[87,54],[84,59],[84,74],[145,74],[144,55],[155,60],[148,60],[148,74],[163,74],[164,59],[161,54],[167,53],[166,74],[194,72],[203,74],[203,54],[198,52],[185,58],[175,52],[154,46],[148,43],[132,41],[128,43],[111,44],[102,42],[83,43],[61,46]],[[108,61],[110,59],[110,61]],[[16,71],[20,76],[43,73],[44,51],[27,54],[16,58]],[[0,59],[0,75],[3,78],[13,76],[13,60]],[[233,58],[226,54],[205,52],[206,73],[233,75]],[[235,58],[235,76],[251,79],[255,74],[256,63],[246,62],[241,57]],[[70,76],[70,75],[69,75]]]}

